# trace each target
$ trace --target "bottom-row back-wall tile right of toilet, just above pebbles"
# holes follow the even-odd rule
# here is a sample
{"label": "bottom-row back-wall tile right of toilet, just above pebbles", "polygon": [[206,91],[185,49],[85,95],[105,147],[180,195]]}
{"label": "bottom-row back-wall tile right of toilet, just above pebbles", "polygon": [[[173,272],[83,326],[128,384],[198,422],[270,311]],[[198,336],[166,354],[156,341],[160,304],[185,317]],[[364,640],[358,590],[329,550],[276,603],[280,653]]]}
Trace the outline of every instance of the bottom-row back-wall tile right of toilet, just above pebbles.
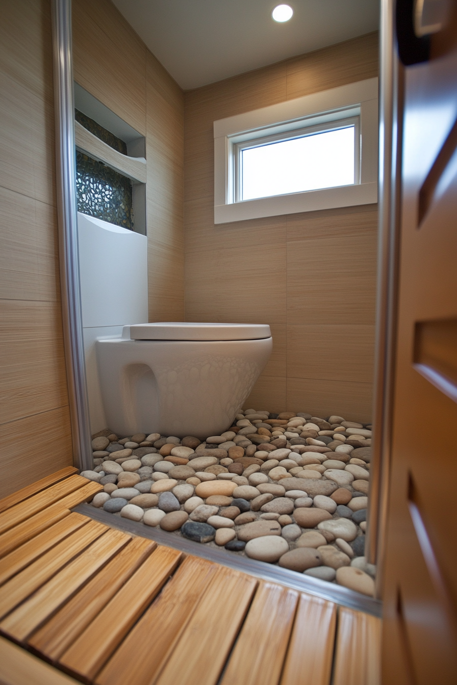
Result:
{"label": "bottom-row back-wall tile right of toilet, just above pebbles", "polygon": [[308,412],[312,416],[331,416],[336,411],[347,421],[372,420],[373,384],[329,381],[315,378],[287,379],[288,412]]}

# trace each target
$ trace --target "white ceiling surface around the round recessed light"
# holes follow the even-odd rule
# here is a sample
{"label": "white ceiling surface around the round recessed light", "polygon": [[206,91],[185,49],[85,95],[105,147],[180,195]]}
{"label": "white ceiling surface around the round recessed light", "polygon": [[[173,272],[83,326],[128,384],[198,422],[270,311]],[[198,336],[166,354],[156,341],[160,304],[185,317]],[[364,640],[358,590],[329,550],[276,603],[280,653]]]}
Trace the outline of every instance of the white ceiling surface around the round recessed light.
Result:
{"label": "white ceiling surface around the round recessed light", "polygon": [[[375,31],[379,0],[113,0],[184,90]],[[285,0],[287,1],[287,0]]]}

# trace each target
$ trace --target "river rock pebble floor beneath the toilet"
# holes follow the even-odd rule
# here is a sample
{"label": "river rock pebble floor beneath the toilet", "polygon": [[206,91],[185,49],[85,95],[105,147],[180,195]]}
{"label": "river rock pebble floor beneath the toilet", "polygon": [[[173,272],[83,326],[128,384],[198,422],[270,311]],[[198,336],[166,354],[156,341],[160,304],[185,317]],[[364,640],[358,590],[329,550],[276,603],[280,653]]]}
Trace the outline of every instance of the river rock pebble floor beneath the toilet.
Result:
{"label": "river rock pebble floor beneath the toilet", "polygon": [[92,506],[373,595],[371,425],[247,409],[204,441],[106,429],[92,449]]}

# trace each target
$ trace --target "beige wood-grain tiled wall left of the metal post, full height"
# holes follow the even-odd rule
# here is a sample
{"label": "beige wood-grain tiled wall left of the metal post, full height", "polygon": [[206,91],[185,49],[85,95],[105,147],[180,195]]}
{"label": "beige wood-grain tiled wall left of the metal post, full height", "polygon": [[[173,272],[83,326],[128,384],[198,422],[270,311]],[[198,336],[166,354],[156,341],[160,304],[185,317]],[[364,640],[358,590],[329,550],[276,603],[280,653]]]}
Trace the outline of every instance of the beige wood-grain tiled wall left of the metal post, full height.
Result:
{"label": "beige wood-grain tiled wall left of the metal post, full height", "polygon": [[0,21],[0,497],[73,462],[50,4],[3,3]]}

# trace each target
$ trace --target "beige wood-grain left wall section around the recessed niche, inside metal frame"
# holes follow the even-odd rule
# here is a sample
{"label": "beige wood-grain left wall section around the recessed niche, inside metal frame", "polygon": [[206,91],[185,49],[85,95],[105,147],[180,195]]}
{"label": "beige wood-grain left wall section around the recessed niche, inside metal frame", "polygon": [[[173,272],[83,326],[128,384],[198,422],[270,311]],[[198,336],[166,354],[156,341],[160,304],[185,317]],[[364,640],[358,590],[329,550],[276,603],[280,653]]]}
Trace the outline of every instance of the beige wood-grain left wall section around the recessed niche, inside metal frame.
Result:
{"label": "beige wood-grain left wall section around the recessed niche, inside metal frame", "polygon": [[146,136],[149,321],[184,319],[184,95],[110,0],[73,0],[75,81]]}

